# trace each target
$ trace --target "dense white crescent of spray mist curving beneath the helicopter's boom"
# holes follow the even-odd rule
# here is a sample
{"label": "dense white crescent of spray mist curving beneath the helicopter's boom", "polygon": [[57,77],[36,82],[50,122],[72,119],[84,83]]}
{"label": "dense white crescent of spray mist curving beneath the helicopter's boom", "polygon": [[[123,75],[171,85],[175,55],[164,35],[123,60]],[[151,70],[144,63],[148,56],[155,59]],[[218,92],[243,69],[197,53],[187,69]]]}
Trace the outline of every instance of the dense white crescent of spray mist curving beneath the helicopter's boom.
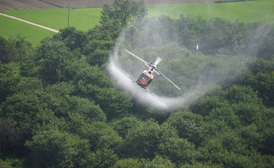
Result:
{"label": "dense white crescent of spray mist curving beneath the helicopter's boom", "polygon": [[[147,68],[145,66],[138,67],[139,72],[132,74],[130,69],[123,69],[124,67],[121,67],[119,57],[121,56],[121,54],[126,54],[125,52],[123,52],[123,48],[125,48],[124,40],[125,40],[126,33],[127,33],[127,29],[125,29],[121,33],[118,40],[116,41],[114,50],[112,54],[110,55],[108,72],[113,77],[117,87],[119,87],[119,89],[125,92],[128,92],[135,101],[137,101],[138,103],[142,103],[145,106],[153,106],[154,108],[158,108],[161,110],[171,110],[180,106],[184,106],[188,103],[191,103],[193,100],[197,98],[197,96],[199,97],[202,95],[202,93],[205,92],[205,90],[202,91],[201,89],[199,89],[199,87],[197,87],[197,89],[189,91],[183,94],[183,96],[168,97],[168,96],[159,96],[157,95],[157,90],[154,91],[154,94],[157,95],[163,101],[165,101],[167,105],[164,102],[162,102],[160,99],[158,99],[157,97],[151,95],[148,92],[145,92],[143,88],[140,88],[139,86],[137,86],[135,82],[132,79],[130,79],[130,77],[128,77],[126,74],[124,74],[122,71],[120,71],[117,68],[117,67],[121,68],[124,72],[127,72],[129,75],[131,75],[133,78],[136,78],[136,79],[138,77],[138,74],[142,72],[143,70],[146,70],[145,68]],[[129,59],[134,60],[135,58],[130,57]],[[123,60],[123,62],[125,62],[125,60]],[[138,66],[137,64],[132,64],[130,62],[127,62],[127,63],[131,64],[129,67]],[[159,77],[159,76],[155,76],[155,77]],[[156,81],[153,81],[153,82],[156,82]],[[152,85],[153,85],[153,82],[152,82]],[[170,85],[170,87],[174,87],[174,86]],[[175,87],[174,89],[176,90]]]}

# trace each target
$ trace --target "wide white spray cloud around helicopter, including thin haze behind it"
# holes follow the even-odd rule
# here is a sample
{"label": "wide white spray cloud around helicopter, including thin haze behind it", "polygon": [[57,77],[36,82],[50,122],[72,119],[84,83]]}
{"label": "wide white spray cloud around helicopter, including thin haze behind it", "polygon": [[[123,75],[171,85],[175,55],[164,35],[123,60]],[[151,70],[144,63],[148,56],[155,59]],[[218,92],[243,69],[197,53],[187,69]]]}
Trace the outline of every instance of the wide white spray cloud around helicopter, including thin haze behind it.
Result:
{"label": "wide white spray cloud around helicopter, including thin haze behind it", "polygon": [[[124,29],[115,43],[113,52],[110,55],[108,71],[117,86],[121,90],[130,93],[135,101],[163,110],[180,108],[210,92],[214,89],[217,81],[218,83],[225,83],[229,75],[233,74],[233,77],[246,68],[247,59],[240,56],[203,55],[199,50],[196,51],[196,42],[193,43],[194,51],[189,51],[183,46],[175,44],[174,41],[176,40],[174,39],[178,38],[176,33],[162,33],[162,30],[167,29],[168,26],[170,28],[170,25],[159,23],[158,18],[147,19],[142,26],[130,25]],[[170,95],[176,96],[163,94],[164,91],[161,90],[160,86],[168,86],[170,83],[165,81],[166,79],[163,77],[155,75],[155,79],[149,88],[168,104],[165,105],[156,97],[135,86],[132,80],[117,69],[115,65],[136,79],[143,70],[147,70],[147,67],[141,61],[129,56],[123,51],[123,48],[130,50],[145,61],[154,61],[157,56],[160,56],[163,59],[160,65],[157,66],[160,72],[170,78],[183,91],[178,92],[179,94],[173,94],[177,93],[177,90],[170,85],[169,90],[173,92]],[[203,44],[199,45],[200,48],[203,48]],[[172,52],[169,52],[169,50],[172,50]],[[203,68],[200,69],[200,67]],[[162,81],[163,83],[161,83]],[[185,88],[182,88],[184,86]]]}

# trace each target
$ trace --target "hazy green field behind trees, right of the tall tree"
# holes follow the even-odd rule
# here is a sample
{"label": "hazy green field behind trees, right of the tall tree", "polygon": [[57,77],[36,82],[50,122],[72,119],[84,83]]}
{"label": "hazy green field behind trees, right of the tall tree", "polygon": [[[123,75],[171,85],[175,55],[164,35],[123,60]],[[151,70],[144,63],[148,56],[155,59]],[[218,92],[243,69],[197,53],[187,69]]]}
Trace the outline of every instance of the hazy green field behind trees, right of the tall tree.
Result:
{"label": "hazy green field behind trees, right of the tall tree", "polygon": [[240,22],[267,21],[274,24],[274,0],[252,0],[229,3],[188,3],[148,6],[149,16],[168,15],[178,19],[181,14],[202,16],[204,19],[220,17]]}

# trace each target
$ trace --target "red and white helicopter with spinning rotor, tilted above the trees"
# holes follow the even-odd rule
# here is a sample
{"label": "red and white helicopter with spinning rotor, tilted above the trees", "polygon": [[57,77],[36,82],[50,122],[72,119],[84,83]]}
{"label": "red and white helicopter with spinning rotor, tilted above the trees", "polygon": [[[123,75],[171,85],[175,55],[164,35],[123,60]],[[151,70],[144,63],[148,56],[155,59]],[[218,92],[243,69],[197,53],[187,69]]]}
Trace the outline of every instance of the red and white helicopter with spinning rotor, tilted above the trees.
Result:
{"label": "red and white helicopter with spinning rotor, tilted above the trees", "polygon": [[168,79],[164,74],[162,74],[158,69],[157,69],[157,65],[162,61],[162,59],[160,57],[157,57],[154,64],[152,63],[147,63],[146,61],[144,61],[143,59],[139,58],[137,55],[133,54],[132,52],[130,52],[129,50],[125,49],[124,50],[126,52],[128,52],[129,54],[133,55],[134,57],[136,57],[137,59],[139,59],[140,61],[142,61],[148,68],[149,70],[145,70],[143,71],[137,78],[137,80],[135,81],[137,83],[137,85],[139,85],[140,87],[146,89],[148,87],[148,85],[152,82],[153,80],[153,72],[156,72],[157,74],[161,74],[163,75],[170,83],[172,83],[178,90],[181,90],[177,85],[175,85],[170,79]]}

